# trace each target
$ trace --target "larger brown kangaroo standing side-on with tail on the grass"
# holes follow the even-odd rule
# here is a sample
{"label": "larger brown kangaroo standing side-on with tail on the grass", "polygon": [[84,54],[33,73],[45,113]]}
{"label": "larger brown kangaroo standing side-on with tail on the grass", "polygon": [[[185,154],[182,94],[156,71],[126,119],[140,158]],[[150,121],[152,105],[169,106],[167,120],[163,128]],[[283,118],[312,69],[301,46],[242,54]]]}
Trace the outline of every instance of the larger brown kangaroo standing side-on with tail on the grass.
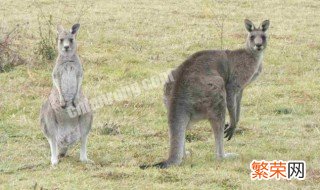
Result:
{"label": "larger brown kangaroo standing side-on with tail on the grass", "polygon": [[[207,119],[214,132],[218,159],[234,157],[224,153],[223,136],[233,137],[240,117],[243,89],[254,81],[262,70],[263,52],[267,47],[266,31],[269,20],[256,28],[244,20],[248,31],[246,47],[238,50],[205,50],[190,56],[171,72],[174,81],[164,86],[164,103],[168,110],[169,158],[154,165],[168,168],[181,164],[186,156],[185,131],[192,122]],[[226,108],[230,124],[225,125]]]}

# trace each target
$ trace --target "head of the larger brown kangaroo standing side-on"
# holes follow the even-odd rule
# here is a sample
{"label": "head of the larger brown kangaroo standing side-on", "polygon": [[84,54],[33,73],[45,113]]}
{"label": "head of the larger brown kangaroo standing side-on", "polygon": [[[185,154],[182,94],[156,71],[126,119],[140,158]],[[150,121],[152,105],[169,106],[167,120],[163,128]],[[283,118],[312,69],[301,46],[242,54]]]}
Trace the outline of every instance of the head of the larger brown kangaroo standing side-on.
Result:
{"label": "head of the larger brown kangaroo standing side-on", "polygon": [[265,20],[256,28],[250,20],[244,20],[245,27],[249,32],[246,43],[250,51],[262,52],[267,47],[266,31],[269,28],[269,23],[269,20]]}

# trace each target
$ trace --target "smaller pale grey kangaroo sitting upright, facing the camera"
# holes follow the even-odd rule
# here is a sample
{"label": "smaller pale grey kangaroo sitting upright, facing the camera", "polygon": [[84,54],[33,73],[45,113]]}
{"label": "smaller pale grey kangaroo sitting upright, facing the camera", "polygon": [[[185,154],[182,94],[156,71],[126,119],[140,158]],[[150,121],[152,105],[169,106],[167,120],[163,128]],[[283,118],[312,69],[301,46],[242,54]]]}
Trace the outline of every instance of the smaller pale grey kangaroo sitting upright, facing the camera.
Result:
{"label": "smaller pale grey kangaroo sitting upright, facing the camera", "polygon": [[59,157],[64,157],[68,148],[81,140],[80,160],[87,158],[87,136],[92,125],[92,113],[71,117],[69,110],[75,109],[79,102],[89,104],[83,95],[81,84],[83,69],[77,55],[76,35],[80,24],[70,31],[58,26],[59,55],[52,72],[53,88],[49,98],[42,105],[40,123],[51,149],[51,164],[57,165]]}

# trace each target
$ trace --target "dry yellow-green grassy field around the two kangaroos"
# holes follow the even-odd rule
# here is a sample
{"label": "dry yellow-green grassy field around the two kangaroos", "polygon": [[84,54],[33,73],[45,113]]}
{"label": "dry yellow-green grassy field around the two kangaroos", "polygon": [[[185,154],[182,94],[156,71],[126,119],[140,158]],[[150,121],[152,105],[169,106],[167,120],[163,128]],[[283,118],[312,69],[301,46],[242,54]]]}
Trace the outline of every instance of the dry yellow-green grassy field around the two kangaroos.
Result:
{"label": "dry yellow-green grassy field around the two kangaroos", "polygon": [[[2,26],[29,25],[16,42],[28,64],[0,73],[0,189],[320,189],[319,9],[318,0],[2,0]],[[77,145],[52,168],[39,110],[54,61],[34,54],[41,10],[68,27],[80,20],[89,98],[167,71],[196,51],[220,49],[216,21],[223,14],[225,49],[244,46],[245,18],[256,25],[270,19],[263,73],[245,90],[239,130],[225,142],[239,158],[217,161],[211,127],[200,122],[188,131],[191,156],[180,167],[140,170],[167,156],[158,87],[95,112],[88,143],[94,164],[78,161]],[[251,181],[253,159],[304,160],[306,180]]]}

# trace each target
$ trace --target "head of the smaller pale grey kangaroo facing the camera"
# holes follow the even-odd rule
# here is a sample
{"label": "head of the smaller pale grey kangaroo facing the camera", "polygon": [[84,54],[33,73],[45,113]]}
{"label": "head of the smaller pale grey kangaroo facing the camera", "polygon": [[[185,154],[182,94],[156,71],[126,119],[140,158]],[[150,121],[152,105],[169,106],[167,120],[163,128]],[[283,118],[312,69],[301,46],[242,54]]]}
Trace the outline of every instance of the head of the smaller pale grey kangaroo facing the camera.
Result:
{"label": "head of the smaller pale grey kangaroo facing the camera", "polygon": [[76,35],[80,28],[80,24],[72,26],[70,31],[64,30],[58,25],[58,51],[62,56],[72,56],[77,50]]}

